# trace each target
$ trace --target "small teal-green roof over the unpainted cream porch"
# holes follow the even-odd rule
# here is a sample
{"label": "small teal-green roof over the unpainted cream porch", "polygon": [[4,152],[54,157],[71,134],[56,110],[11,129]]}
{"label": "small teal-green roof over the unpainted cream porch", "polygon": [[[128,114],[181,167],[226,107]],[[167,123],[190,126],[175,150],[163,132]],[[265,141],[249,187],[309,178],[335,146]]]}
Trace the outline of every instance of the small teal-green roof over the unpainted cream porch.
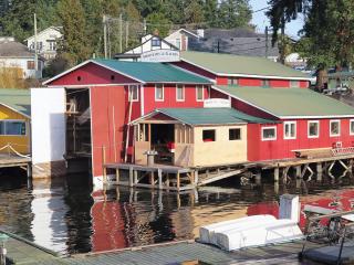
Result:
{"label": "small teal-green roof over the unpainted cream porch", "polygon": [[156,112],[188,125],[274,123],[274,120],[257,118],[233,108],[160,108]]}

